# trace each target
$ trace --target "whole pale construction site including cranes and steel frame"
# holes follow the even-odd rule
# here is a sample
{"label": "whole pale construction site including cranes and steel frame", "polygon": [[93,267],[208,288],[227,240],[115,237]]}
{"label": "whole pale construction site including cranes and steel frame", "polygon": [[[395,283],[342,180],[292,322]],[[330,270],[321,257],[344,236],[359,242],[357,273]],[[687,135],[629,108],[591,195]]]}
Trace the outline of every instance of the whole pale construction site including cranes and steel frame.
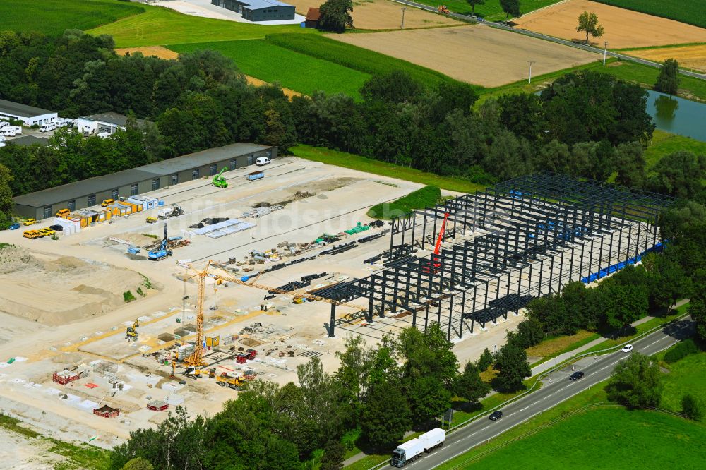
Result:
{"label": "whole pale construction site including cranes and steel frame", "polygon": [[420,187],[280,157],[56,240],[2,232],[0,403],[44,434],[113,447],[176,406],[213,415],[251,380],[297,382],[311,358],[334,370],[351,335],[439,323],[463,363],[534,297],[659,250],[672,203],[539,173],[366,216]]}

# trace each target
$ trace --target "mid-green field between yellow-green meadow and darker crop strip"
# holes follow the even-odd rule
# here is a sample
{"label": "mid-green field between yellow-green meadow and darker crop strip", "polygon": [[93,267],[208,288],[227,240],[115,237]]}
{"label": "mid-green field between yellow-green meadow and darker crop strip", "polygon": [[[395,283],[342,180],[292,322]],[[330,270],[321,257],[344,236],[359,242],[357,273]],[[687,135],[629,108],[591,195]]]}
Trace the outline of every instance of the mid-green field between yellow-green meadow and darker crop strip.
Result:
{"label": "mid-green field between yellow-green meadow and darker crop strip", "polygon": [[304,95],[322,90],[329,94],[343,92],[359,98],[358,90],[370,78],[367,73],[300,54],[264,40],[172,44],[169,49],[182,54],[197,49],[213,49],[233,59],[246,75],[270,83],[277,81],[283,87]]}

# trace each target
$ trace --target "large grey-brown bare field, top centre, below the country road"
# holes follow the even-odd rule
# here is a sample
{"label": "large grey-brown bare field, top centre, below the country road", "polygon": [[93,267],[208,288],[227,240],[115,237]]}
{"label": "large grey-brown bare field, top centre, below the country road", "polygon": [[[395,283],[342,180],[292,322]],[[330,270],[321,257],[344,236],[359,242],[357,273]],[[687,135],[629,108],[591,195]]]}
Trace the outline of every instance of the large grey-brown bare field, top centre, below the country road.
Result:
{"label": "large grey-brown bare field, top centre, below the country road", "polygon": [[328,37],[488,87],[527,78],[528,60],[534,61],[532,75],[538,76],[598,59],[597,54],[485,25]]}

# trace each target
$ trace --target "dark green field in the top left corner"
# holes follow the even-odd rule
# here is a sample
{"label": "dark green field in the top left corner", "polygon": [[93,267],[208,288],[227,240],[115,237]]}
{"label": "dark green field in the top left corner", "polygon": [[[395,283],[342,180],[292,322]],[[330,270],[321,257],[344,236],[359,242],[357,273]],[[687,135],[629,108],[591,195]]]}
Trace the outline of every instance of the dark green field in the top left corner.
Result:
{"label": "dark green field in the top left corner", "polygon": [[88,30],[112,23],[145,8],[116,0],[2,0],[0,31],[61,35],[64,30]]}

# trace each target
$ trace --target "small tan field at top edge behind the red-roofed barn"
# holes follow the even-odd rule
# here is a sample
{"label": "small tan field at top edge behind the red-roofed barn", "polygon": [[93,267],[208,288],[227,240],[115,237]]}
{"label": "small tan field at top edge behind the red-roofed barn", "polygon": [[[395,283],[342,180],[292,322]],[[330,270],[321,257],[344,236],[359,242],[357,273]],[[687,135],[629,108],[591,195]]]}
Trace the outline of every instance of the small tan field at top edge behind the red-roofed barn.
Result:
{"label": "small tan field at top edge behind the red-roofed barn", "polygon": [[[318,8],[321,0],[292,0],[297,13],[306,15],[310,7]],[[400,28],[402,22],[402,5],[389,0],[354,0],[353,24],[362,30],[387,30]],[[430,13],[419,8],[407,8],[405,11],[405,28],[431,28],[441,25],[462,25],[460,21],[443,15]]]}

